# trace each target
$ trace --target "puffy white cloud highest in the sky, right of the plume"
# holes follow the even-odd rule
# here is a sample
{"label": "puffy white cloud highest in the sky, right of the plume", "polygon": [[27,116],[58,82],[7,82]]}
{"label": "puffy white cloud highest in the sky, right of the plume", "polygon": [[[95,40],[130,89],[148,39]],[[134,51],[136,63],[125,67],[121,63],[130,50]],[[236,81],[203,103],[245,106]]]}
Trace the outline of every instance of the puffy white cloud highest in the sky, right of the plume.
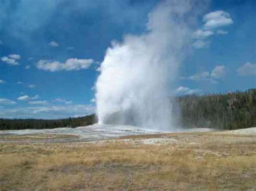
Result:
{"label": "puffy white cloud highest in the sky, right of the plume", "polygon": [[221,26],[231,25],[233,23],[230,14],[225,11],[214,11],[203,17],[204,28],[214,29]]}

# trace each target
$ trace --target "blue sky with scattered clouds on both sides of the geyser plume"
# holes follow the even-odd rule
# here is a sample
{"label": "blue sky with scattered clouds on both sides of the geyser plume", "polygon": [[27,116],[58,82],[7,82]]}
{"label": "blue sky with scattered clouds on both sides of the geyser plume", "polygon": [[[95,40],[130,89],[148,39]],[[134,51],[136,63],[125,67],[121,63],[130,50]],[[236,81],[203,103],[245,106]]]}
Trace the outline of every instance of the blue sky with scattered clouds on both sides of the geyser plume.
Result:
{"label": "blue sky with scattered clouds on both sides of the geyser plume", "polygon": [[[0,1],[0,118],[91,114],[112,40],[146,30],[158,1]],[[255,1],[212,1],[198,17],[178,95],[256,88]]]}

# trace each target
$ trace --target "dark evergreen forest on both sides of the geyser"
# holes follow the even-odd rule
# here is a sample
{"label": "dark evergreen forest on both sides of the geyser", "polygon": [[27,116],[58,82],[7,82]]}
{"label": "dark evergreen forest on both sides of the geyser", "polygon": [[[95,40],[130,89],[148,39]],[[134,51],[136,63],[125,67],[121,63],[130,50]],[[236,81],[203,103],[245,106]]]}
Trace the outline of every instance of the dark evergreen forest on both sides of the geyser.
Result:
{"label": "dark evergreen forest on both sides of the geyser", "polygon": [[[185,128],[241,129],[256,126],[256,89],[176,98],[180,120]],[[96,123],[95,115],[78,118],[0,119],[0,130],[75,128]]]}

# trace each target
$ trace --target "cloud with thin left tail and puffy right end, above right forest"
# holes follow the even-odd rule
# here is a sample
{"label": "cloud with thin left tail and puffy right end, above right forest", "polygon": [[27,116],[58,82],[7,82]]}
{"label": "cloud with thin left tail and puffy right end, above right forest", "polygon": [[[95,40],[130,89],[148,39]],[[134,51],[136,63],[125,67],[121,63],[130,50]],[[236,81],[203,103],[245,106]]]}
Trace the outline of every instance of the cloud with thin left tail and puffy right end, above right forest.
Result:
{"label": "cloud with thin left tail and puffy right end, above right forest", "polygon": [[223,79],[226,75],[226,68],[225,66],[216,66],[211,72],[204,71],[192,76],[188,77],[181,77],[181,79],[188,79],[194,81],[210,81],[212,83],[217,83],[216,80]]}

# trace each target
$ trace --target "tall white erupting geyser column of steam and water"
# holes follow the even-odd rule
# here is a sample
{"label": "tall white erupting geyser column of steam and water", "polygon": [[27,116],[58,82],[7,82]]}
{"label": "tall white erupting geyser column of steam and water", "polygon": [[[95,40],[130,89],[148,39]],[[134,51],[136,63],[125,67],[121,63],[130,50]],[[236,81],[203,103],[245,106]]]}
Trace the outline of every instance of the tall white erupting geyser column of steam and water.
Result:
{"label": "tall white erupting geyser column of steam and water", "polygon": [[107,49],[96,82],[99,124],[136,125],[170,130],[172,84],[191,44],[196,17],[191,1],[161,2],[150,14],[147,31],[126,35]]}

